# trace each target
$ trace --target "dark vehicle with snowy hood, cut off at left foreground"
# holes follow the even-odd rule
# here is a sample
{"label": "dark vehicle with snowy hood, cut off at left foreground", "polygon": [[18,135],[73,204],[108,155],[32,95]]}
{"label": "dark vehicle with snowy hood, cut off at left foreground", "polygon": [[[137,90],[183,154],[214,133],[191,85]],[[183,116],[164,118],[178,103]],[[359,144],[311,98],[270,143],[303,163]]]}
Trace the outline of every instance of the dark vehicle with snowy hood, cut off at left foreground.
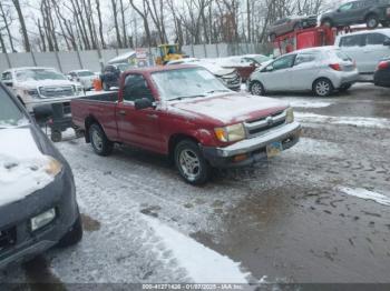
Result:
{"label": "dark vehicle with snowy hood, cut off at left foreground", "polygon": [[81,238],[69,164],[0,82],[0,270]]}

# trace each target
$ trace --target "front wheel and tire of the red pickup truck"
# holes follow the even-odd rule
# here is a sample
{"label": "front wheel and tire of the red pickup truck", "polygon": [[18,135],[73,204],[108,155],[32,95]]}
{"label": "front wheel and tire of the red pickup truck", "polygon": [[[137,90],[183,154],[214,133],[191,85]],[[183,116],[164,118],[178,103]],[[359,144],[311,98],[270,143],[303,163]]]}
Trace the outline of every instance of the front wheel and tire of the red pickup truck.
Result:
{"label": "front wheel and tire of the red pickup truck", "polygon": [[211,165],[194,141],[181,141],[175,148],[174,157],[175,165],[186,183],[201,185],[209,180]]}

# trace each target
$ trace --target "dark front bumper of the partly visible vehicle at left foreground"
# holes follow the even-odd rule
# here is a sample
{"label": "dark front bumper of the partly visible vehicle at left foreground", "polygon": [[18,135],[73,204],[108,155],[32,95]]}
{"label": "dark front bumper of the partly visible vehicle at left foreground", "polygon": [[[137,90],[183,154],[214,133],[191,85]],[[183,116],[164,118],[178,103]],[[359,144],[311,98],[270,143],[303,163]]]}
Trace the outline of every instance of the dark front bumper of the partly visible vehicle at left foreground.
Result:
{"label": "dark front bumper of the partly visible vehicle at left foreground", "polygon": [[[52,208],[55,220],[32,232],[30,219]],[[14,242],[0,249],[0,269],[31,259],[57,244],[78,217],[75,183],[66,169],[46,188],[1,207],[0,231],[12,230]]]}

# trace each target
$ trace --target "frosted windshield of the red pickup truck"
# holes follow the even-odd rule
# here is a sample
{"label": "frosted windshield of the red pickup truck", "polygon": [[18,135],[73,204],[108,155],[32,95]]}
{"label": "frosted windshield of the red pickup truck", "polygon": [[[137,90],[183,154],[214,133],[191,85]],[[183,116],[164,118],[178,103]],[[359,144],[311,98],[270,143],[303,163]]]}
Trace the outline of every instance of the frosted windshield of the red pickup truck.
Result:
{"label": "frosted windshield of the red pickup truck", "polygon": [[155,72],[152,79],[157,84],[160,98],[166,101],[230,92],[218,79],[203,68]]}

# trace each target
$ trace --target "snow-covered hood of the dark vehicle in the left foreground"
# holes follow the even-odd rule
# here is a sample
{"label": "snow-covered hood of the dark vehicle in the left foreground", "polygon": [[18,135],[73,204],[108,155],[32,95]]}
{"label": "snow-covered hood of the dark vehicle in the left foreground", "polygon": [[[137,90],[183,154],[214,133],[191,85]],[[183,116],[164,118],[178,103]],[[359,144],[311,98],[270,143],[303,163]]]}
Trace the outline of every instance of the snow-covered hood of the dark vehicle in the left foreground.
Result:
{"label": "snow-covered hood of the dark vehicle in the left foreground", "polygon": [[0,129],[0,207],[25,199],[53,181],[50,158],[38,148],[30,127]]}

